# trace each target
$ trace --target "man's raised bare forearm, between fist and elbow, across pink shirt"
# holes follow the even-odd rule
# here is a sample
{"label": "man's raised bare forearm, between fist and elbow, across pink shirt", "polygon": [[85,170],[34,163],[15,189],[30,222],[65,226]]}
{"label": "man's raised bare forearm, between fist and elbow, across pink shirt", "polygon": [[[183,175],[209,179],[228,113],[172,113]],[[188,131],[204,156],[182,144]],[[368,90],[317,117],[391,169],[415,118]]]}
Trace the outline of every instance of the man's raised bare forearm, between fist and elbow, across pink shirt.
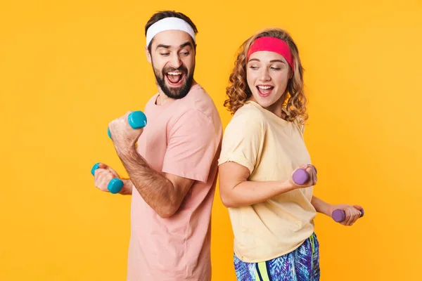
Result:
{"label": "man's raised bare forearm, between fist and elbow, across pink shirt", "polygon": [[136,152],[135,148],[124,153],[118,153],[118,155],[129,174],[130,181],[143,197],[143,200],[160,216],[166,216],[174,200],[172,182],[153,170],[145,159]]}

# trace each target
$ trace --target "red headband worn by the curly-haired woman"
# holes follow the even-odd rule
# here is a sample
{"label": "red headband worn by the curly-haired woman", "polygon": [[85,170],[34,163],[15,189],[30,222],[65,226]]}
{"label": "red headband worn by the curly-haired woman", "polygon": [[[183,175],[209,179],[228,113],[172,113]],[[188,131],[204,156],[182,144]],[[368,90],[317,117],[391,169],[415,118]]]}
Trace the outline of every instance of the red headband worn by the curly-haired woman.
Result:
{"label": "red headband worn by the curly-haired woman", "polygon": [[285,58],[287,63],[290,65],[292,72],[294,72],[295,67],[293,65],[293,57],[290,53],[290,47],[285,41],[275,37],[260,37],[255,39],[255,41],[252,43],[252,46],[249,48],[248,59],[252,53],[258,51],[270,51],[283,55],[283,58]]}

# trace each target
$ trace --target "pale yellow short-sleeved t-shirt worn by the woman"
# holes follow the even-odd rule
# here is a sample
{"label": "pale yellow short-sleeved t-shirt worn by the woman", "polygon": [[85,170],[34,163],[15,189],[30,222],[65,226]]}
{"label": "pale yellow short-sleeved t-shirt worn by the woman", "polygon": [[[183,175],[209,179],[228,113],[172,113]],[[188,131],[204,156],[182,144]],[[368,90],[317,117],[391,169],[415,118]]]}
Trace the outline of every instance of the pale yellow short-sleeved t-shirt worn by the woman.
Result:
{"label": "pale yellow short-sleeved t-shirt worn by the woman", "polygon": [[[227,125],[219,164],[237,162],[250,170],[249,181],[286,181],[311,160],[303,126],[287,122],[249,101]],[[313,187],[300,188],[245,207],[229,208],[234,252],[245,262],[288,254],[314,232]]]}

